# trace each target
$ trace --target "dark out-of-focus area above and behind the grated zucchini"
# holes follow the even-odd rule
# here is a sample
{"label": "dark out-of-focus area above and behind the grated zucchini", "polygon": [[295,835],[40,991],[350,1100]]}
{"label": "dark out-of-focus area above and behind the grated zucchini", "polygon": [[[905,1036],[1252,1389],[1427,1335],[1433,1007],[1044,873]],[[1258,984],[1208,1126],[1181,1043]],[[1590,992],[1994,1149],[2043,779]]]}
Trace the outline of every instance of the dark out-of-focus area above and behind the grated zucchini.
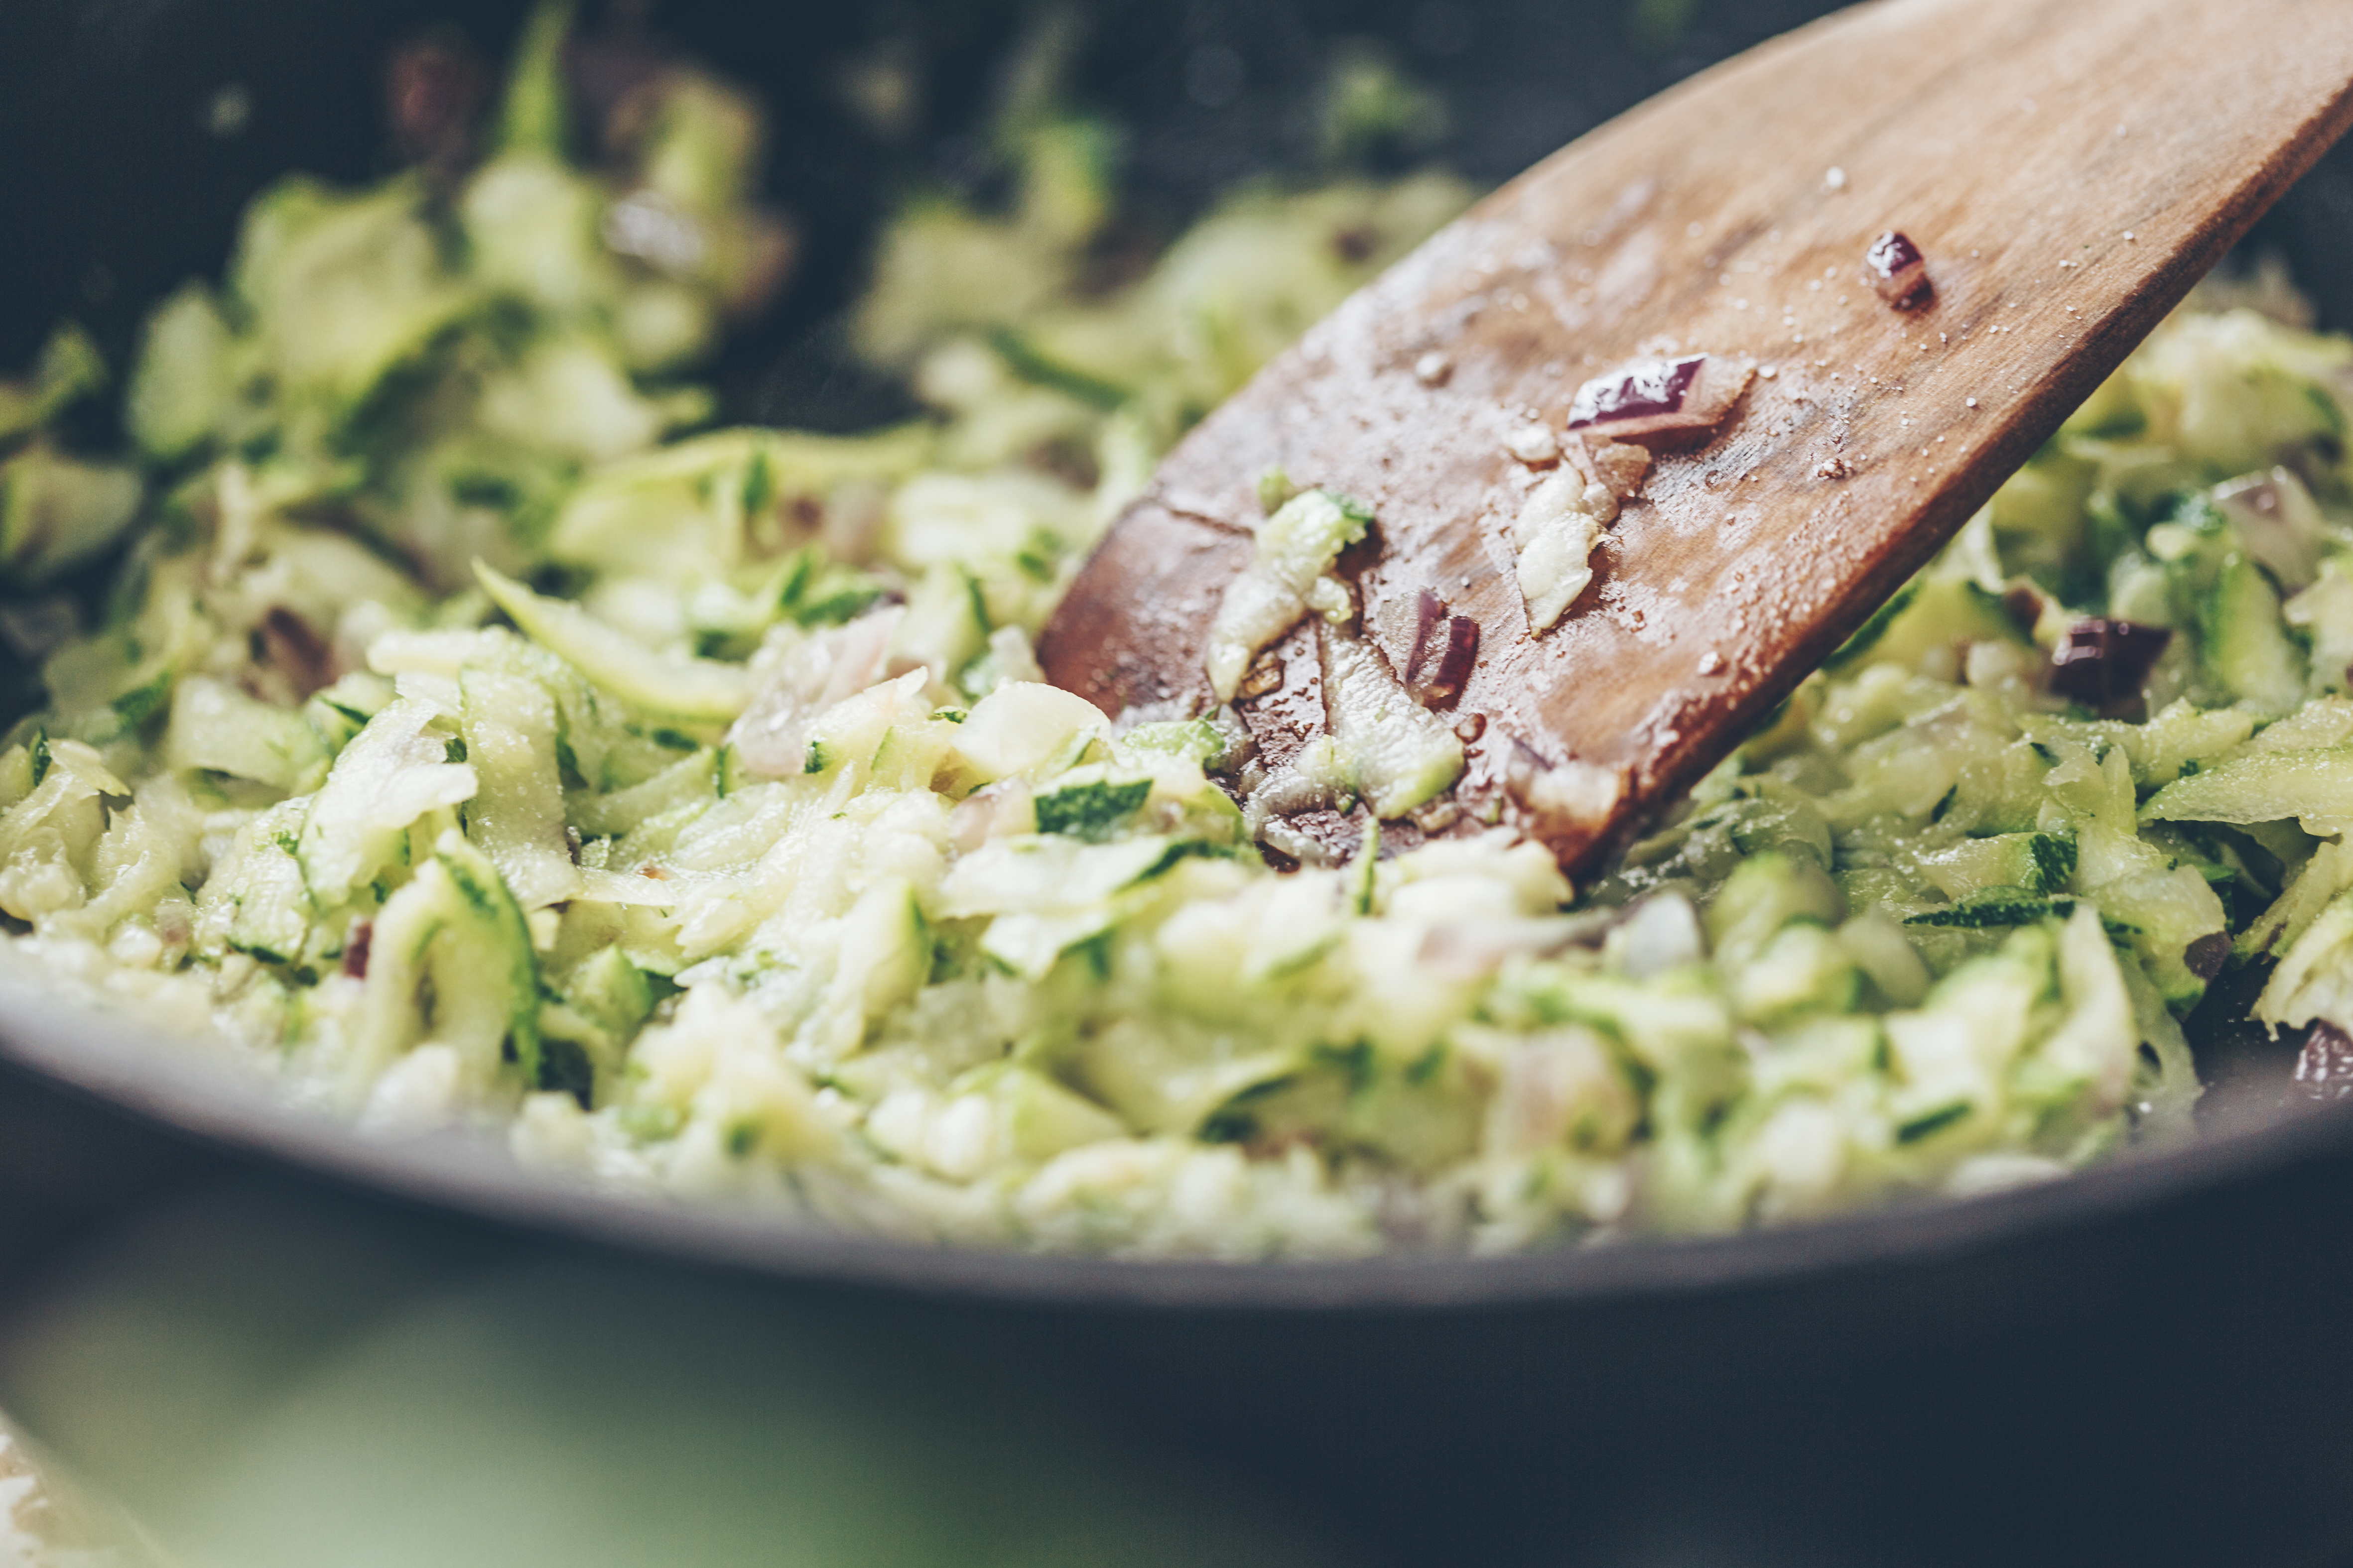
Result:
{"label": "dark out-of-focus area above and behind the grated zucchini", "polygon": [[[882,0],[692,5],[584,0],[586,26],[642,26],[755,89],[769,197],[800,256],[767,315],[729,339],[729,414],[856,428],[887,393],[840,378],[826,324],[868,240],[911,190],[988,195],[984,127],[1019,49],[1066,40],[1075,108],[1118,136],[1125,223],[1165,240],[1212,193],[1313,174],[1334,155],[1445,165],[1504,181],[1718,59],[1835,9],[1821,0]],[[506,59],[520,0],[12,0],[0,52],[0,364],[59,317],[122,367],[148,303],[214,275],[238,214],[273,176],[362,181],[400,165],[384,68],[447,26]],[[1329,96],[1388,68],[1426,106],[1360,120],[1334,148]],[[1341,115],[1346,118],[1346,115]],[[1381,127],[1388,127],[1386,132]],[[2353,155],[2339,148],[2264,221],[2252,249],[2299,268],[2322,320],[2353,320]]]}

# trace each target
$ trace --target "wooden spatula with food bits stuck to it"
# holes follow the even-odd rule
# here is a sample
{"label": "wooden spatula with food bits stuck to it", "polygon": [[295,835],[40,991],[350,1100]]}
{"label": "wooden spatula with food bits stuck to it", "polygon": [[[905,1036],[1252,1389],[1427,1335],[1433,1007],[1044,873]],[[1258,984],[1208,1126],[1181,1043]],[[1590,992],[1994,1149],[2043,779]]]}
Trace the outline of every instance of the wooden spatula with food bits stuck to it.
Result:
{"label": "wooden spatula with food bits stuck to it", "polygon": [[[1393,672],[1417,642],[1431,658],[1431,616],[1457,644],[1475,623],[1459,693],[1424,693],[1468,743],[1461,783],[1386,842],[1513,820],[1591,865],[1854,632],[2348,120],[2353,0],[1882,0],[1791,33],[1537,165],[1268,364],[1167,456],[1040,661],[1113,715],[1209,710],[1205,637],[1261,475],[1344,491],[1377,515],[1341,569]],[[1889,230],[1913,270],[1904,244],[1873,256]],[[1591,585],[1534,632],[1511,527],[1546,437],[1525,425],[1595,437],[1569,461],[1626,489],[1647,447],[1565,433],[1579,388],[1598,381],[1593,411],[1626,400],[1619,371],[1694,355],[1737,402],[1713,433],[1642,437],[1685,449],[1652,456]],[[1308,616],[1235,703],[1266,764],[1325,724],[1318,635]],[[1294,827],[1346,853],[1362,811]]]}

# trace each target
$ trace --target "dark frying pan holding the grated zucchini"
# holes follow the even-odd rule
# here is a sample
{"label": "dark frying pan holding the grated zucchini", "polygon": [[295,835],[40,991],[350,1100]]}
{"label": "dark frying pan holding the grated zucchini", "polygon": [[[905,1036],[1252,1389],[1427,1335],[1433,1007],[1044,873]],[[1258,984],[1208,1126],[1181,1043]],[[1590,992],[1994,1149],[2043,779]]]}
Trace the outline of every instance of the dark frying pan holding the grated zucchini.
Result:
{"label": "dark frying pan holding the grated zucchini", "polygon": [[[1381,40],[1438,85],[1452,132],[1435,153],[1504,179],[1819,9],[1101,0],[1073,82],[1129,127],[1139,209],[1167,228],[1221,183],[1313,158],[1301,106],[1346,40]],[[59,315],[122,364],[144,306],[219,268],[261,181],[388,165],[376,75],[395,40],[456,19],[496,56],[518,12],[0,5],[0,364],[24,362]],[[828,322],[896,188],[988,193],[969,132],[1035,12],[675,5],[652,21],[767,94],[769,186],[809,240],[791,296],[718,369],[732,411],[835,428],[889,416],[904,395],[847,364]],[[840,92],[845,63],[892,49],[922,80],[904,136],[861,125]],[[2353,153],[2325,160],[2254,247],[2289,259],[2322,320],[2353,324]],[[75,1124],[64,1088],[287,1180],[428,1204],[452,1227],[861,1293],[908,1333],[953,1312],[1007,1356],[1075,1371],[1268,1472],[1391,1563],[2318,1563],[2353,1549],[2353,1107],[2280,1110],[2292,1041],[2193,1034],[2219,1084],[2205,1138],[2040,1190],[1513,1260],[1120,1265],[633,1206],[456,1138],[360,1143],[184,1044],[0,973],[0,1058],[26,1074],[7,1093],[35,1121]]]}

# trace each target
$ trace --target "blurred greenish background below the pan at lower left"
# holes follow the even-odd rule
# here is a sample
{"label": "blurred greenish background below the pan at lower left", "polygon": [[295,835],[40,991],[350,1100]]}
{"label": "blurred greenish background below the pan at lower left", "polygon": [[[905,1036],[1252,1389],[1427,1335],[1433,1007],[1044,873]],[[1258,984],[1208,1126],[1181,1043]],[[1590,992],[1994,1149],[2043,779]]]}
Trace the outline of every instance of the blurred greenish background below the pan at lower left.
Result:
{"label": "blurred greenish background below the pan at lower left", "polygon": [[501,1237],[16,1081],[0,1180],[9,1568],[1358,1561],[988,1314]]}

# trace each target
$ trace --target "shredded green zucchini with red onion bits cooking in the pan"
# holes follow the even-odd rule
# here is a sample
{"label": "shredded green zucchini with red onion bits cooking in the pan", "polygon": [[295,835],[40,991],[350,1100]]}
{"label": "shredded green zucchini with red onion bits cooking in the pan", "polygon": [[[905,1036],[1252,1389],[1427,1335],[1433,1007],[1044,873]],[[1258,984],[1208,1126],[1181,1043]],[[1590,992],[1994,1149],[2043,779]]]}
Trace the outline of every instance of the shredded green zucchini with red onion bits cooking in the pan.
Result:
{"label": "shredded green zucchini with red onion bits cooking in the pan", "polygon": [[[1322,616],[1313,766],[1231,710],[1106,719],[1031,651],[1174,437],[1459,183],[1245,190],[1106,282],[1106,136],[1016,106],[1012,197],[904,207],[852,322],[927,414],[713,428],[687,371],[788,261],[758,118],[675,66],[567,101],[560,45],[473,148],[261,195],[146,329],[134,454],[56,433],[104,381],[73,331],[0,390],[0,957],[374,1133],[1136,1255],[2045,1180],[2186,1126],[2177,1020],[2242,966],[2261,1023],[2346,1039],[2344,339],[2177,315],[1572,889],[1449,802],[1459,628],[1428,677],[1348,635],[1379,517],[1315,475],[1268,475],[1209,670],[1247,693]],[[1532,623],[1591,498],[1520,529]],[[1355,853],[1285,837],[1285,790]]]}

